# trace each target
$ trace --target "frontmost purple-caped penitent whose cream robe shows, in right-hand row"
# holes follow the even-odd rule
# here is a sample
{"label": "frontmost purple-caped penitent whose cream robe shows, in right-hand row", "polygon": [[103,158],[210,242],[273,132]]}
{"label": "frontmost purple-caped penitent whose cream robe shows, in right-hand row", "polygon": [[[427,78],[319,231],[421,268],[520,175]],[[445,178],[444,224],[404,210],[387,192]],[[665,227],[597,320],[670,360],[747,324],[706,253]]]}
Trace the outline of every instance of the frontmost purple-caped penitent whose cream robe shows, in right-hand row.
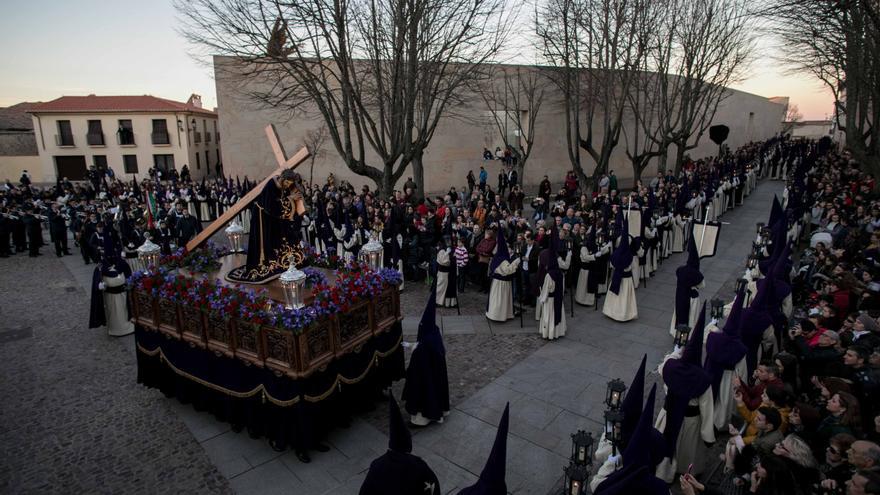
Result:
{"label": "frontmost purple-caped penitent whose cream robe shows, in right-hand row", "polygon": [[[657,417],[657,429],[666,439],[666,452],[657,476],[667,483],[672,482],[676,471],[697,462],[703,442],[715,441],[712,377],[703,368],[705,310],[704,303],[684,349],[667,356],[660,366],[666,401]],[[681,357],[676,357],[678,352]]]}

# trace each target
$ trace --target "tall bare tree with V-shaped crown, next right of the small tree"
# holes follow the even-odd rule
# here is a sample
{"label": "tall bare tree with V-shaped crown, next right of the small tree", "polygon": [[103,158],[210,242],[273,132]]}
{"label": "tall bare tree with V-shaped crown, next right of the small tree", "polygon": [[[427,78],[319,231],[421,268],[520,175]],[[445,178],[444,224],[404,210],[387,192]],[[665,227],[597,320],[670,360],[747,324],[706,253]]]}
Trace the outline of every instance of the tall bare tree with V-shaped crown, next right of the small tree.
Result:
{"label": "tall bare tree with V-shaped crown, next right of the small tree", "polygon": [[[648,0],[548,0],[539,12],[537,35],[562,93],[569,160],[588,187],[608,170],[620,140],[651,11]],[[582,149],[595,162],[589,180]]]}

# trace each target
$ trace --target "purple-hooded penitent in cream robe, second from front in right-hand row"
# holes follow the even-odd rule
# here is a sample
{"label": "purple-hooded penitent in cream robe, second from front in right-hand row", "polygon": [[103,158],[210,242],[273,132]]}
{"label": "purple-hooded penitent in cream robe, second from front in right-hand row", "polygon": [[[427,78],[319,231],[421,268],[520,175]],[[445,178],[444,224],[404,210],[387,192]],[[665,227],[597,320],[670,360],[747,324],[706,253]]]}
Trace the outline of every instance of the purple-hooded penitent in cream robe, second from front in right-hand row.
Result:
{"label": "purple-hooded penitent in cream robe, second from front in right-hand row", "polygon": [[715,428],[722,429],[733,414],[733,377],[745,377],[746,345],[739,334],[742,323],[743,291],[736,294],[733,308],[720,332],[710,332],[706,337],[706,370],[712,376],[712,393],[715,396]]}

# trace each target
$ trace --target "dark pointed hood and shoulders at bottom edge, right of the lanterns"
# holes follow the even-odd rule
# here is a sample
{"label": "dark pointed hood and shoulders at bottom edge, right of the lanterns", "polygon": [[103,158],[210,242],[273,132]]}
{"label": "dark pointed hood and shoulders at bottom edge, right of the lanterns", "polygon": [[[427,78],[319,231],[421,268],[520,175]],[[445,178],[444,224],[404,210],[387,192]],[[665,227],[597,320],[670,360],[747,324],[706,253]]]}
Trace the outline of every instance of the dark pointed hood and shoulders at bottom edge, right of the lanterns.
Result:
{"label": "dark pointed hood and shoulders at bottom edge, right of the lanterns", "polygon": [[[651,424],[656,394],[655,384],[648,393],[648,400],[629,445],[623,451],[623,466],[598,483],[593,491],[595,495],[669,494],[666,482],[654,475],[654,470],[663,459],[663,435]],[[596,478],[602,474],[600,471]]]}

